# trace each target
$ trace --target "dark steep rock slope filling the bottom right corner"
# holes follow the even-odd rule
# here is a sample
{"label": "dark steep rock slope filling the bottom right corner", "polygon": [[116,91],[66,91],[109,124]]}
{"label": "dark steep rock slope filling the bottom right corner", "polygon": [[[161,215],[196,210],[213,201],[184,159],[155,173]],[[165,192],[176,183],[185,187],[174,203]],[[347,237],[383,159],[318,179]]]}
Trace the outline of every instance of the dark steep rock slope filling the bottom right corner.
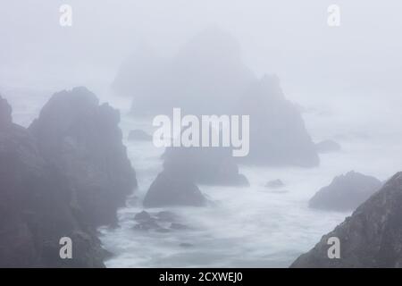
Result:
{"label": "dark steep rock slope filling the bottom right corner", "polygon": [[[328,258],[327,241],[339,238],[340,258]],[[402,267],[402,172],[325,234],[291,267]]]}

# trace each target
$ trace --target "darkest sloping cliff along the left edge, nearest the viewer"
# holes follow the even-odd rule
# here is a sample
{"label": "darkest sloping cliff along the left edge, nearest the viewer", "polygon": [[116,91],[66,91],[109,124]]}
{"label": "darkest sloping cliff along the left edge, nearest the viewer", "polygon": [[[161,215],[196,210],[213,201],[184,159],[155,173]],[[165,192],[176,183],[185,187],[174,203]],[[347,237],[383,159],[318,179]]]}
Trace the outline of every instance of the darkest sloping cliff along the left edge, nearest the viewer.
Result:
{"label": "darkest sloping cliff along the left edge, nearest the viewer", "polygon": [[[104,266],[105,250],[73,204],[68,181],[13,124],[2,97],[0,120],[0,267]],[[72,259],[59,256],[62,237],[73,241]]]}

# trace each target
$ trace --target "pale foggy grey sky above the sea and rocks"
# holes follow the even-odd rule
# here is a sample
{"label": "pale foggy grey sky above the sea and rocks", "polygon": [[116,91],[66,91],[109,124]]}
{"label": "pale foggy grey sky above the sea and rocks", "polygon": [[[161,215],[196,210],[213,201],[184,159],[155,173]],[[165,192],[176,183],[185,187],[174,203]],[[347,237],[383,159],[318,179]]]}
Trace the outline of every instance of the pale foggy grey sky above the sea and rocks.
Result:
{"label": "pale foggy grey sky above the sea and rocks", "polygon": [[[402,90],[398,0],[0,2],[0,86],[37,77],[41,84],[61,78],[84,83],[97,73],[112,81],[138,43],[171,56],[198,31],[217,26],[239,40],[257,75],[277,73],[289,97],[398,99]],[[71,4],[70,28],[59,25],[61,4]],[[327,24],[330,4],[339,4],[340,27]]]}

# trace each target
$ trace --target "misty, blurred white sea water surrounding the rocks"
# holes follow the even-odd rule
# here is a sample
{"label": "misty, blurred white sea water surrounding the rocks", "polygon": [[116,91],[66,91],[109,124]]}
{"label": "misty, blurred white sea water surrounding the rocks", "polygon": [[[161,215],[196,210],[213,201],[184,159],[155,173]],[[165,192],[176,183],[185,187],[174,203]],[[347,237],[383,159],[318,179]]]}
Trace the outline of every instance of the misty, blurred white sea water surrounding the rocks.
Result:
{"label": "misty, blurred white sea water surrounding the rocks", "polygon": [[[113,252],[105,262],[107,267],[288,267],[350,215],[308,208],[308,199],[318,189],[334,176],[351,170],[386,180],[402,165],[398,108],[382,106],[385,112],[380,116],[374,112],[379,105],[371,104],[356,116],[353,106],[331,104],[328,112],[319,105],[304,114],[307,129],[314,141],[335,139],[342,146],[338,153],[321,155],[319,167],[240,165],[250,187],[199,186],[214,202],[212,206],[149,210],[172,211],[188,230],[135,231],[134,215],[143,210],[142,198],[162,169],[163,149],[155,148],[152,142],[128,141],[130,130],[151,133],[151,120],[132,117],[130,100],[110,97],[102,92],[104,89],[99,90],[95,91],[102,102],[108,101],[121,110],[124,143],[138,177],[138,190],[118,212],[120,226],[99,229],[104,247]],[[14,121],[28,126],[54,90],[2,87],[2,92],[13,105]],[[357,105],[358,101],[355,108],[361,108]],[[267,181],[276,179],[285,186],[264,187]]]}

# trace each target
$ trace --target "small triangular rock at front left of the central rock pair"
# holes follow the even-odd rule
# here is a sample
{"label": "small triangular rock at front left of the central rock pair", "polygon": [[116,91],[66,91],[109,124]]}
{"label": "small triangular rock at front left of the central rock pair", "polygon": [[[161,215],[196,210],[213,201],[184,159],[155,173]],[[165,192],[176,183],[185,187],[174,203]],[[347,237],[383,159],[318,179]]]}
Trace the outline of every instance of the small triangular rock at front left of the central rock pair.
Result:
{"label": "small triangular rock at front left of the central rock pair", "polygon": [[206,198],[191,180],[166,171],[152,182],[143,202],[144,207],[205,205]]}

